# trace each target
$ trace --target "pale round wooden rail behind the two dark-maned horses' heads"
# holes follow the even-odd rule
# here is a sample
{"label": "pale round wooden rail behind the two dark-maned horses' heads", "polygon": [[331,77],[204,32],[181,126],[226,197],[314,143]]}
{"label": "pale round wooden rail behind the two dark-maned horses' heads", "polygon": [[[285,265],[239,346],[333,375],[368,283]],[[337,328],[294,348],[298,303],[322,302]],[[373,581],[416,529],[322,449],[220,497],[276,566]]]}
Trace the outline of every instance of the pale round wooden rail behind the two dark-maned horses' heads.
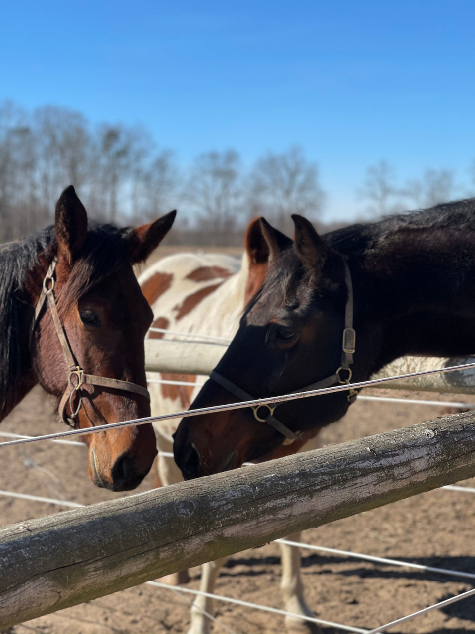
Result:
{"label": "pale round wooden rail behind the two dark-maned horses' heads", "polygon": [[[210,375],[226,351],[226,346],[209,343],[181,343],[173,340],[147,339],[145,366],[148,372]],[[400,374],[434,370],[462,363],[473,363],[474,356],[439,358],[407,356],[373,375],[371,378],[394,377]],[[475,394],[475,368],[447,374],[418,377],[386,383],[384,389]]]}

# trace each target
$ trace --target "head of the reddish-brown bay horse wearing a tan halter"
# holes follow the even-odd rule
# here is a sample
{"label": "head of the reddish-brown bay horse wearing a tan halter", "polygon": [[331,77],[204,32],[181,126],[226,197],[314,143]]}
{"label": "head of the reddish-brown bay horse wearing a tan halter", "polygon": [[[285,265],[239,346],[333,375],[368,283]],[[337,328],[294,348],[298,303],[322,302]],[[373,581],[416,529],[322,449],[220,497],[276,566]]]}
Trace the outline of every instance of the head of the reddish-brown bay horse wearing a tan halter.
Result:
{"label": "head of the reddish-brown bay horse wearing a tan halter", "polygon": [[[44,282],[49,288],[54,285],[56,319],[54,307],[45,301],[34,322],[30,349],[34,382],[56,398],[63,397],[60,415],[74,427],[150,415],[144,337],[153,314],[132,266],[158,246],[174,218],[171,212],[135,230],[88,227],[72,186],[58,200],[55,239],[40,254],[26,285],[33,305],[44,295]],[[47,275],[53,261],[54,279]],[[77,363],[76,372],[72,363]],[[89,447],[89,476],[94,484],[113,491],[136,488],[156,456],[151,424],[86,434],[82,439]]]}

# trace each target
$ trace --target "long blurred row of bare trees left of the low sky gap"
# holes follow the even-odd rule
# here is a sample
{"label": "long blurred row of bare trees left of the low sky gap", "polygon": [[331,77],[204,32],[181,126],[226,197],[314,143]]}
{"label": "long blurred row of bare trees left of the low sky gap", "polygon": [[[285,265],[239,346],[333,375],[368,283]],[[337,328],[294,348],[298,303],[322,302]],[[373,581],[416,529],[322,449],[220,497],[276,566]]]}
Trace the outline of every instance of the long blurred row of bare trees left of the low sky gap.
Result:
{"label": "long blurred row of bare trees left of the low sky gap", "polygon": [[4,103],[0,242],[50,223],[70,183],[101,221],[141,223],[180,207],[184,213],[171,239],[195,243],[233,242],[258,214],[286,230],[291,213],[305,210],[317,219],[324,198],[317,167],[299,147],[268,153],[248,172],[234,150],[203,153],[183,170],[146,129],[93,127],[65,108],[27,112]]}

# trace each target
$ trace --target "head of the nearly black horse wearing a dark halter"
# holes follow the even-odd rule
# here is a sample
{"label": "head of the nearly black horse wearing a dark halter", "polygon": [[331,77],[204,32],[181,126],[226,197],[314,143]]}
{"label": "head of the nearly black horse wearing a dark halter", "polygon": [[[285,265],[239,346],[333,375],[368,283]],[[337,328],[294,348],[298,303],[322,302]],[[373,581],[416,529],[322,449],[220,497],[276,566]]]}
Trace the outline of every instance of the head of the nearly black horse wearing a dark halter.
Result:
{"label": "head of the nearly black horse wearing a dark halter", "polygon": [[[208,380],[191,409],[246,400],[236,398],[239,390],[265,398],[338,376],[348,300],[346,264],[305,218],[293,220],[295,242],[263,218],[248,240],[261,245],[258,253],[267,250],[269,270],[215,368],[224,385],[237,386],[238,392]],[[346,392],[279,404],[274,416],[287,438],[265,423],[273,408],[263,406],[183,418],[175,434],[175,460],[186,479],[233,469],[269,455],[282,441],[294,439],[300,447],[298,439],[341,418],[349,404]]]}

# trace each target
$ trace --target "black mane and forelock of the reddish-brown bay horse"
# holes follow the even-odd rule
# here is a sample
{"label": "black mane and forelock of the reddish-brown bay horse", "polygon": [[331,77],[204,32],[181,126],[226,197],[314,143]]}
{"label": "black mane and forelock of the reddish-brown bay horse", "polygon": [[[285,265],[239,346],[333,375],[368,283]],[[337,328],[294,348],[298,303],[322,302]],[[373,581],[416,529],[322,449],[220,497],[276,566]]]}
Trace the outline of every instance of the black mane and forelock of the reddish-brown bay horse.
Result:
{"label": "black mane and forelock of the reddish-brown bay horse", "polygon": [[[128,261],[131,240],[129,228],[89,226],[80,258],[58,298],[60,311]],[[25,309],[32,311],[25,292],[27,274],[38,264],[41,254],[49,254],[51,259],[57,248],[54,226],[22,242],[0,245],[0,420],[9,411],[9,404],[16,403],[25,375],[22,350],[28,342],[20,332],[20,314]]]}

